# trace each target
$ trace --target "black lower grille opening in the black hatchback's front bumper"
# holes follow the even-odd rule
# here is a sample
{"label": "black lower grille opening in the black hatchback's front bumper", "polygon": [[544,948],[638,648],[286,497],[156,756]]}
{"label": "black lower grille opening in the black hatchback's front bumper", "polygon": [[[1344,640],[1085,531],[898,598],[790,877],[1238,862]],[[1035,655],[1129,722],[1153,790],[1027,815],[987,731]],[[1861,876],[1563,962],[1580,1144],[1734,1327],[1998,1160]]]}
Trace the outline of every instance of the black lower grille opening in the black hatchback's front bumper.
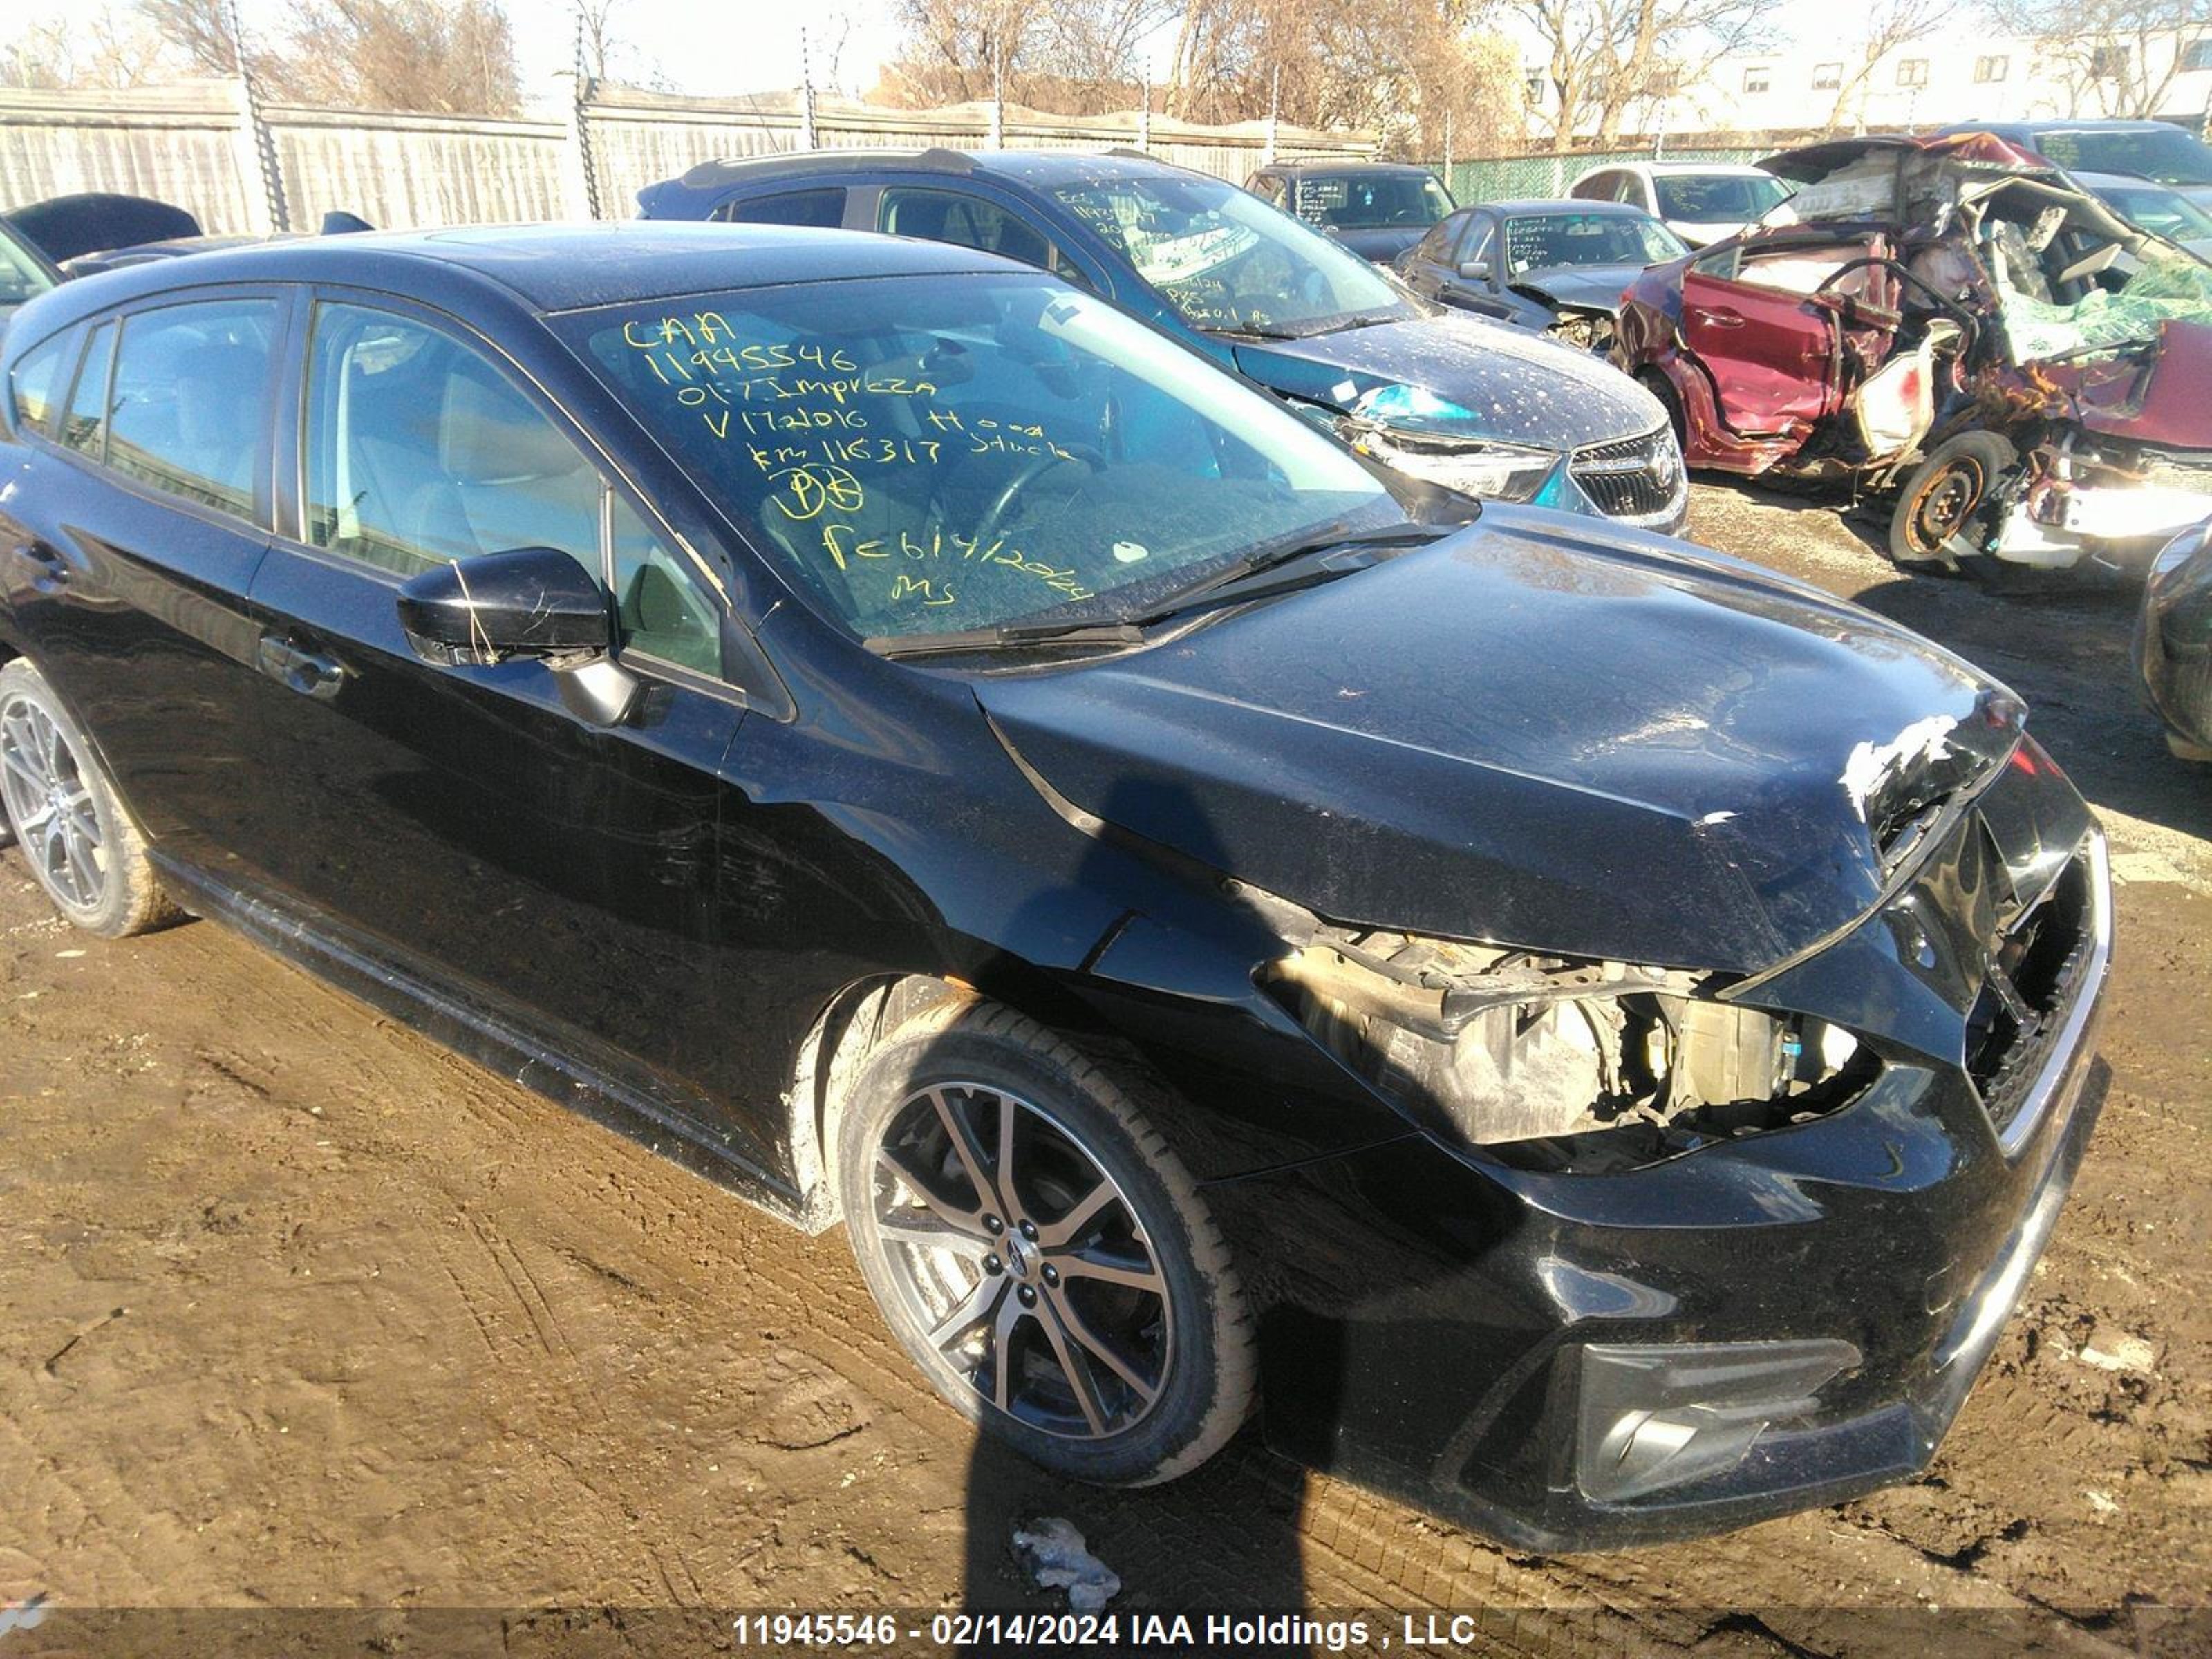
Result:
{"label": "black lower grille opening in the black hatchback's front bumper", "polygon": [[1991,942],[1991,964],[2011,980],[2020,1009],[1984,984],[1966,1018],[1966,1071],[1982,1091],[1989,1121],[2004,1130],[2020,1117],[2088,982],[2095,947],[2090,867],[2075,856],[2039,900]]}

